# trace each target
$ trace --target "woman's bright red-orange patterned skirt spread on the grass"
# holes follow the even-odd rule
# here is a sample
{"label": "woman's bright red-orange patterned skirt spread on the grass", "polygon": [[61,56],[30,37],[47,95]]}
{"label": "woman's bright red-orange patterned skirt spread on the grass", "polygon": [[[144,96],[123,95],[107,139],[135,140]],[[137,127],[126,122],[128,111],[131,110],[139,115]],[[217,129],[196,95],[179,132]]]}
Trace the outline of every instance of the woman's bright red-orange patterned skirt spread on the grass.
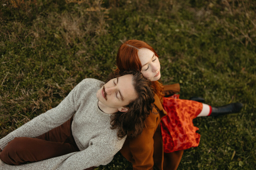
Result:
{"label": "woman's bright red-orange patterned skirt spread on the grass", "polygon": [[199,128],[194,126],[192,120],[201,112],[202,103],[179,99],[177,94],[163,100],[163,108],[167,112],[161,121],[164,152],[197,147],[200,135],[196,131]]}

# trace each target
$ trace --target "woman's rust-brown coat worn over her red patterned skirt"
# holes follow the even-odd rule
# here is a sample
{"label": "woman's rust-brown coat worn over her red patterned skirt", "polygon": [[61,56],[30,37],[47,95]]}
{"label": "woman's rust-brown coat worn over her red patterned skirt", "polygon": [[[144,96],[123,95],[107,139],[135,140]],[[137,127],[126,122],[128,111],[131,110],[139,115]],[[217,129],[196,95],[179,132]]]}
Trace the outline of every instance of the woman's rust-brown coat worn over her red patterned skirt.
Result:
{"label": "woman's rust-brown coat worn over her red patterned skirt", "polygon": [[[170,95],[180,90],[179,84],[166,85],[163,94]],[[164,153],[160,122],[167,113],[162,107],[163,99],[155,95],[154,108],[146,119],[146,127],[136,138],[127,138],[121,154],[132,163],[134,170],[147,170],[153,167],[160,170],[177,169],[182,151]]]}

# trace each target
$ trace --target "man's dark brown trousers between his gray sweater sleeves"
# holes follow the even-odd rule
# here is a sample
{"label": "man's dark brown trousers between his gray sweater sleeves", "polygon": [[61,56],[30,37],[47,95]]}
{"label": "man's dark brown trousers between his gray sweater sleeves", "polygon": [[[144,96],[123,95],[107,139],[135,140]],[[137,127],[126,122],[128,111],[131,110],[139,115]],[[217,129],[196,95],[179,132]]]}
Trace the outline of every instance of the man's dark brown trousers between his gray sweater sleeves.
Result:
{"label": "man's dark brown trousers between his gray sweater sleeves", "polygon": [[14,138],[3,149],[0,159],[8,165],[21,165],[80,151],[72,135],[72,121],[73,117],[36,138]]}

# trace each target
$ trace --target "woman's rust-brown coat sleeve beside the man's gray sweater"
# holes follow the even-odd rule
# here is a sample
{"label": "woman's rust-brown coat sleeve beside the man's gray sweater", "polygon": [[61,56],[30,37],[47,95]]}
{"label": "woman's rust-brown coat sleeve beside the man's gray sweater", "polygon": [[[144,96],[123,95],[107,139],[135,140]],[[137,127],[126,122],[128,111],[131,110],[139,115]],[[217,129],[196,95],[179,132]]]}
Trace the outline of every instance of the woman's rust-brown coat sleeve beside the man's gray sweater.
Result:
{"label": "woman's rust-brown coat sleeve beside the man's gray sweater", "polygon": [[120,151],[122,155],[132,163],[134,170],[152,169],[154,166],[154,132],[159,124],[159,114],[150,113],[146,119],[146,127],[142,134],[135,138],[128,138]]}

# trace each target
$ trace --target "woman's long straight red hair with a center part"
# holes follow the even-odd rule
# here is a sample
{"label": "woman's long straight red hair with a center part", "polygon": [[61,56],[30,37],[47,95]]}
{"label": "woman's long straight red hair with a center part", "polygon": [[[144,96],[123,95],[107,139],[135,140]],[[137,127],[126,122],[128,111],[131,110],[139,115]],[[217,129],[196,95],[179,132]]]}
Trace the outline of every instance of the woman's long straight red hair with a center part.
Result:
{"label": "woman's long straight red hair with a center part", "polygon": [[[116,71],[127,71],[130,69],[141,71],[141,61],[138,57],[138,50],[140,48],[148,48],[153,51],[157,57],[159,57],[156,54],[156,51],[144,41],[128,40],[123,43],[118,50],[116,56],[116,65],[118,68],[116,69]],[[160,99],[162,99],[163,85],[158,81],[153,81],[152,86],[155,89],[156,94],[160,97]]]}

